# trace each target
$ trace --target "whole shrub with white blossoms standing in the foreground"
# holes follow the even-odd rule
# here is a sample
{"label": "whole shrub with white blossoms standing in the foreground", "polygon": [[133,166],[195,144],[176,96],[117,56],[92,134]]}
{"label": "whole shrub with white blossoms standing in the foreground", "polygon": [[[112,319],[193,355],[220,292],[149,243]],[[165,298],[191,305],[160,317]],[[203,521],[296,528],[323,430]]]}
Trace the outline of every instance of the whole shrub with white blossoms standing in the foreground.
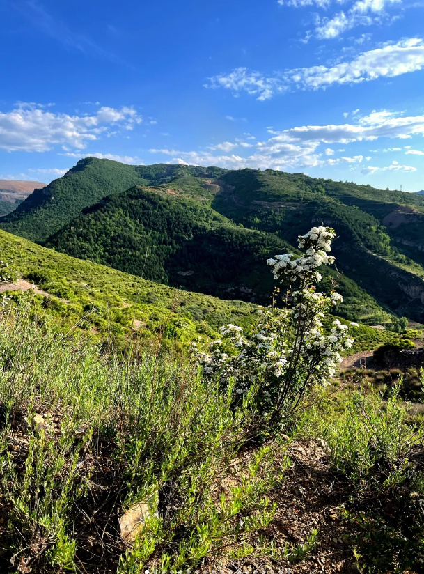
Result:
{"label": "whole shrub with white blossoms standing in the foreground", "polygon": [[290,284],[288,303],[283,309],[260,307],[260,321],[249,335],[237,325],[221,327],[222,339],[228,339],[233,352],[223,351],[223,340],[210,343],[209,352],[192,343],[206,378],[234,385],[236,396],[256,389],[258,408],[272,419],[293,410],[308,386],[327,384],[342,360],[340,352],[352,346],[350,327],[356,323],[347,327],[334,320],[329,333],[322,328],[322,318],[343,297],[335,291],[317,293],[314,285],[321,281],[317,269],[334,263],[328,255],[334,236],[331,228],[313,227],[299,236],[303,256],[288,253],[267,261],[274,278]]}

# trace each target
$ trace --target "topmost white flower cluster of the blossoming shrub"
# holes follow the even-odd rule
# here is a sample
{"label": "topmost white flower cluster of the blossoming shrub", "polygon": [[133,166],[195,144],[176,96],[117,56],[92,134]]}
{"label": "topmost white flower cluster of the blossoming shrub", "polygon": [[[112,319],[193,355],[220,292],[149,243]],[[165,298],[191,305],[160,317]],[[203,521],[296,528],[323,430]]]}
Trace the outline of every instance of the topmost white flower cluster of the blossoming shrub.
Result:
{"label": "topmost white flower cluster of the blossoming shrub", "polygon": [[296,279],[308,277],[321,281],[317,267],[334,263],[334,257],[327,254],[331,251],[331,240],[335,236],[333,229],[322,226],[313,227],[306,235],[299,235],[297,244],[299,249],[305,250],[304,256],[293,259],[294,254],[286,253],[267,260],[267,265],[274,267],[274,279],[293,283]]}

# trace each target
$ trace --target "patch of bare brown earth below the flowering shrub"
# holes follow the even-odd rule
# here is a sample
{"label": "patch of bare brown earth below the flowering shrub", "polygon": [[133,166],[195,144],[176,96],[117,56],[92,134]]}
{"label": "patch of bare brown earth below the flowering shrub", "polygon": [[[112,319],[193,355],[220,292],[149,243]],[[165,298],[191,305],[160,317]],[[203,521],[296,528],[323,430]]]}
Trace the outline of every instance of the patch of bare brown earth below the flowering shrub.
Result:
{"label": "patch of bare brown earth below the flowering shrub", "polygon": [[[342,518],[343,504],[350,490],[331,472],[325,451],[315,442],[295,442],[287,454],[292,466],[285,471],[283,486],[269,495],[277,511],[272,523],[258,532],[272,541],[278,550],[306,544],[317,530],[316,545],[305,559],[274,559],[251,557],[242,560],[209,561],[207,571],[253,573],[264,569],[282,574],[350,574],[357,573],[352,550],[352,527]],[[283,455],[282,455],[283,456]],[[203,569],[201,568],[201,572]]]}

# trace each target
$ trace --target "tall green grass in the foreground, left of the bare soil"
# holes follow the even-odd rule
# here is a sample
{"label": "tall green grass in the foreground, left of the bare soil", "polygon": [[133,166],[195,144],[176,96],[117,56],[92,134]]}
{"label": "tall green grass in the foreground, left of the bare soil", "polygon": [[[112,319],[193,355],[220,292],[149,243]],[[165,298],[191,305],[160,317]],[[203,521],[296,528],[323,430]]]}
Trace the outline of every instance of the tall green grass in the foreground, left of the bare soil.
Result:
{"label": "tall green grass in the foreground, left of the bare soil", "polygon": [[[159,349],[100,356],[84,341],[37,325],[24,309],[3,313],[0,469],[12,548],[6,558],[19,572],[135,573],[146,565],[191,566],[248,541],[274,513],[266,497],[274,483],[272,453],[240,452],[255,424],[254,397],[251,391],[235,408],[232,396],[231,385],[223,394],[187,360]],[[35,428],[34,414],[45,428]],[[99,478],[103,450],[113,467],[107,487]],[[134,545],[125,545],[118,515],[146,500],[157,512]],[[102,536],[93,535],[100,557],[81,548],[80,523],[93,529],[96,520],[103,521]]]}

